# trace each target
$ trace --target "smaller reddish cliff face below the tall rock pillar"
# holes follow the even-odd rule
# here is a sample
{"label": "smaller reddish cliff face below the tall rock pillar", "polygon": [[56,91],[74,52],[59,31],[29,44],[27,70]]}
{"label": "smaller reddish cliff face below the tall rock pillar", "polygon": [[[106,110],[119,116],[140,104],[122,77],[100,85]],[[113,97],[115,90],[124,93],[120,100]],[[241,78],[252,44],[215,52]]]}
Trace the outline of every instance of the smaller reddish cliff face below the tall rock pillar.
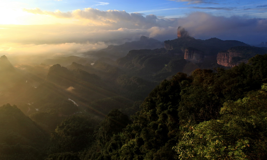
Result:
{"label": "smaller reddish cliff face below the tall rock pillar", "polygon": [[204,53],[194,48],[187,48],[184,51],[184,59],[193,63],[202,63],[204,59]]}

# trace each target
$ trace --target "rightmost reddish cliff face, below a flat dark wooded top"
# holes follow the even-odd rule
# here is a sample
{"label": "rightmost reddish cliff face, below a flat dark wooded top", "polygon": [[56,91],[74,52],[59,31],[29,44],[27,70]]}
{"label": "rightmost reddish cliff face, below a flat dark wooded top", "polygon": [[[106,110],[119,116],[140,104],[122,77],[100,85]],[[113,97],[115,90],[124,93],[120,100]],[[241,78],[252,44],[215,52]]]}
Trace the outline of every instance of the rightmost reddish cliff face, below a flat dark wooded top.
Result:
{"label": "rightmost reddish cliff face, below a flat dark wooded top", "polygon": [[226,67],[233,67],[241,62],[246,63],[247,61],[247,59],[244,59],[244,55],[242,53],[231,50],[219,52],[217,55],[217,63]]}

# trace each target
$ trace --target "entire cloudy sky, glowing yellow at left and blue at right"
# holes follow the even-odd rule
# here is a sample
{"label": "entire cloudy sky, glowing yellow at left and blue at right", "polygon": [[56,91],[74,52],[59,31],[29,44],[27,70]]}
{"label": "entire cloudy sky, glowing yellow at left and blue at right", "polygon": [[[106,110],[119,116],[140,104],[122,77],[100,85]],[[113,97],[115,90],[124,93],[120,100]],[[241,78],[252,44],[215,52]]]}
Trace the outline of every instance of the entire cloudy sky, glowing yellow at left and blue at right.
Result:
{"label": "entire cloudy sky, glowing yellow at left and blue at right", "polygon": [[0,55],[80,55],[112,39],[175,39],[179,26],[196,39],[267,42],[266,0],[1,0],[0,14]]}

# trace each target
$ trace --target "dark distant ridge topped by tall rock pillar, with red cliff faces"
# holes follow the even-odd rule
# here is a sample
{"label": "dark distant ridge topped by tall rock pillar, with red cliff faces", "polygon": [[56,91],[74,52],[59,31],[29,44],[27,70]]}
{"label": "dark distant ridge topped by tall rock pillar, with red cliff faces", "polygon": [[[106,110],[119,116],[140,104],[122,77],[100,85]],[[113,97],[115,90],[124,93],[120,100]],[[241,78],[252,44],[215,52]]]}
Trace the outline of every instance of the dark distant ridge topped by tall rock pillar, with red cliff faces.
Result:
{"label": "dark distant ridge topped by tall rock pillar, with red cliff faces", "polygon": [[[176,54],[184,55],[184,59],[193,63],[214,63],[225,67],[233,67],[247,62],[256,54],[265,54],[264,47],[259,49],[244,42],[210,38],[206,40],[190,37],[183,27],[178,27],[174,40],[164,41],[164,48]],[[263,43],[264,44],[264,43]],[[234,49],[234,53],[233,50]],[[246,53],[249,50],[249,54]]]}

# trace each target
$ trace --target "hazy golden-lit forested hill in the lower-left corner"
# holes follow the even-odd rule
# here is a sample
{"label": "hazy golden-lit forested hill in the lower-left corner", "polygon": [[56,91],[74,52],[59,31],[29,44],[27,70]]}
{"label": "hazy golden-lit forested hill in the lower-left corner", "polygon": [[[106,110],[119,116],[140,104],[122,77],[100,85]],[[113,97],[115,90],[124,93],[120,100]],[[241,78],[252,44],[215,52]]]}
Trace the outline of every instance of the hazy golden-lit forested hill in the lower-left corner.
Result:
{"label": "hazy golden-lit forested hill in the lower-left corner", "polygon": [[48,135],[17,106],[0,107],[0,159],[43,159]]}

